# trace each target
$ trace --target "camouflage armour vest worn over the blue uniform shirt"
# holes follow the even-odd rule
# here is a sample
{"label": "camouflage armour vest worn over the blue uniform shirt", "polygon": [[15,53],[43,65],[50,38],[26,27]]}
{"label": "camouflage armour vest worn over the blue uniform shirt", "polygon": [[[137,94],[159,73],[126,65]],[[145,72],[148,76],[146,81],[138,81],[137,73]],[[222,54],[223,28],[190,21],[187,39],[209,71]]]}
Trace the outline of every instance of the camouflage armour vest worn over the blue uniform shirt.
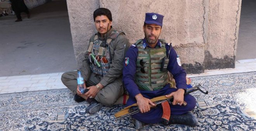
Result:
{"label": "camouflage armour vest worn over the blue uniform shirt", "polygon": [[[160,42],[165,45],[164,40]],[[163,58],[166,56],[165,46],[144,49],[142,39],[138,40],[135,45],[138,47],[135,83],[139,89],[146,91],[162,89],[168,83],[168,71],[160,71]],[[145,72],[142,72],[143,69]]]}

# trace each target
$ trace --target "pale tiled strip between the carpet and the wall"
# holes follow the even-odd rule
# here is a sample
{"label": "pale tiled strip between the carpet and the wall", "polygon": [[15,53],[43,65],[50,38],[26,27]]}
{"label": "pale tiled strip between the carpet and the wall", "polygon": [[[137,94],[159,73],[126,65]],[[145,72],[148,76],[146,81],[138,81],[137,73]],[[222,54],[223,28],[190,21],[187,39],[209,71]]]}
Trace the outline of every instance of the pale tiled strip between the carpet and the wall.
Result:
{"label": "pale tiled strip between the carpet and the wall", "polygon": [[[231,74],[252,71],[256,71],[256,59],[239,60],[235,64],[235,69],[206,70],[202,74],[188,74],[188,77],[211,76],[218,74]],[[61,82],[62,73],[63,72],[0,77],[0,94],[65,89],[67,87],[64,86]]]}

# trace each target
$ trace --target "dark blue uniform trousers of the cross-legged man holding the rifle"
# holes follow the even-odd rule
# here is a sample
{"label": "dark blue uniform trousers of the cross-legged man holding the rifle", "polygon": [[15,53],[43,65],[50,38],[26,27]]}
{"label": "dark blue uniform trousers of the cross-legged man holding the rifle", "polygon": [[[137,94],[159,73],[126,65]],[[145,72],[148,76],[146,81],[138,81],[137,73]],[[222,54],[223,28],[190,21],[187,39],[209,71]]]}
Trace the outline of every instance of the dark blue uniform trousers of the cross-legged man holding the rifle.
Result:
{"label": "dark blue uniform trousers of the cross-legged man holding the rifle", "polygon": [[[163,89],[157,90],[157,91],[140,90],[142,96],[144,96],[148,99],[152,99],[152,98],[158,97],[158,96],[167,95],[174,91],[177,91],[177,89],[170,88],[170,84],[167,84],[166,86],[164,86]],[[173,106],[170,104],[171,115],[181,115],[181,114],[187,113],[187,112],[191,111],[192,109],[194,109],[195,98],[193,96],[191,96],[190,94],[185,95],[184,101],[187,102],[186,106],[180,106],[180,105]],[[136,102],[137,101],[134,97],[129,97],[129,99],[127,101],[127,106],[130,106],[131,104],[134,104]],[[163,109],[162,109],[161,104],[159,104],[159,105],[157,105],[156,108],[151,108],[150,111],[148,111],[147,113],[137,113],[137,114],[132,115],[132,117],[135,119],[138,119],[139,121],[142,121],[144,123],[159,123],[159,122],[162,122],[162,119],[161,119],[162,115],[163,115]]]}

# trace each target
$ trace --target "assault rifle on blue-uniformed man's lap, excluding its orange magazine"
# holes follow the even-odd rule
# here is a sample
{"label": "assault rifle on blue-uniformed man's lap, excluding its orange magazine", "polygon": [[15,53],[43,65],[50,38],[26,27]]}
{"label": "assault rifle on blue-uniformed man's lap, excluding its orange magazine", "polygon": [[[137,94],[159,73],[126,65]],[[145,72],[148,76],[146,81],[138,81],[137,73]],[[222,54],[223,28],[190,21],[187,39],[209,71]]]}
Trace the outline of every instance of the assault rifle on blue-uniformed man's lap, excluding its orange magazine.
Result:
{"label": "assault rifle on blue-uniformed man's lap, excluding its orange magazine", "polygon": [[[199,87],[202,87],[201,84],[198,84],[197,86],[194,86],[192,88],[187,89],[187,92],[184,95],[190,94],[190,93],[195,92],[195,91],[201,91],[203,94],[208,94],[208,91],[204,92]],[[157,104],[161,104],[161,103],[166,102],[166,101],[171,103],[171,102],[173,102],[173,97],[172,96],[171,97],[159,96],[159,97],[155,97],[155,98],[150,99],[150,100],[152,102],[154,102],[155,105],[157,105]],[[130,107],[132,107],[132,106],[137,106],[137,104],[135,103],[131,106],[128,106],[125,109],[123,109],[123,110],[119,111],[118,113],[114,114],[114,116],[116,117],[116,120],[125,118],[127,116],[131,116],[133,114],[136,114],[136,113],[140,112],[138,107],[130,109]]]}

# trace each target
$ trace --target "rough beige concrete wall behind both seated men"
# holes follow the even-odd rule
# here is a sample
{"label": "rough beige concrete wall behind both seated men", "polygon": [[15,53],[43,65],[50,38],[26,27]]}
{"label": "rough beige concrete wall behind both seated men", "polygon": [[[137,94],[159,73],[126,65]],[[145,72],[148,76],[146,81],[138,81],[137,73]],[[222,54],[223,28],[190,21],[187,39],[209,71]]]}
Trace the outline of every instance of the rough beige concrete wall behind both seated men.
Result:
{"label": "rough beige concrete wall behind both seated men", "polygon": [[130,40],[144,38],[145,13],[164,15],[160,38],[172,43],[187,73],[234,68],[241,0],[68,0],[78,67],[95,32],[93,11],[112,12],[112,25]]}

